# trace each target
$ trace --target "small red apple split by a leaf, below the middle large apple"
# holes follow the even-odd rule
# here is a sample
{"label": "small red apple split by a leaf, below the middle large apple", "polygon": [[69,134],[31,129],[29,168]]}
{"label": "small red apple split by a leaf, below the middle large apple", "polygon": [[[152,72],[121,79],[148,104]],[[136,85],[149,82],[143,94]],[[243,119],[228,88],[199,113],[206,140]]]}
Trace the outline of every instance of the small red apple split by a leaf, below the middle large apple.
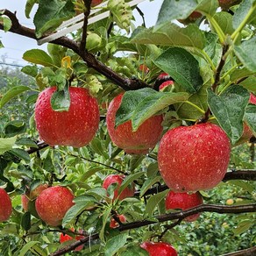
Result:
{"label": "small red apple split by a leaf, below the middle large apple", "polygon": [[117,183],[117,188],[114,191],[114,197],[113,200],[123,200],[126,197],[133,196],[135,192],[134,184],[131,184],[130,186],[124,188],[122,193],[118,195],[118,189],[120,188],[122,182],[124,181],[125,176],[124,175],[118,175],[118,174],[110,174],[107,176],[103,181],[103,188],[106,190],[110,187],[111,184]]}

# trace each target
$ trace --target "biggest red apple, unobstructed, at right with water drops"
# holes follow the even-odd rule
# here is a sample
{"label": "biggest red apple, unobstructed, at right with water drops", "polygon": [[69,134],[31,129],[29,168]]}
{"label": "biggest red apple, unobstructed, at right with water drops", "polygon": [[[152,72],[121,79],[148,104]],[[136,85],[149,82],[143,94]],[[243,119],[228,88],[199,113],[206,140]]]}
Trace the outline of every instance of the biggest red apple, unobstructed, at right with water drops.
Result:
{"label": "biggest red apple, unobstructed, at right with water drops", "polygon": [[179,126],[160,140],[158,165],[174,192],[195,192],[222,181],[230,154],[230,140],[216,124]]}

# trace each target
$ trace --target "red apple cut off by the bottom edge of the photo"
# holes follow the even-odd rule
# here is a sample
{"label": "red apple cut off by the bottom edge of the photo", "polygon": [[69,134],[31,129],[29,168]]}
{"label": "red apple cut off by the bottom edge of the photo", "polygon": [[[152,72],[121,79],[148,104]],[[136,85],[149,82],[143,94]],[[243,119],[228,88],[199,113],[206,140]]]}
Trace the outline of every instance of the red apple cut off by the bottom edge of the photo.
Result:
{"label": "red apple cut off by the bottom edge of the photo", "polygon": [[172,245],[164,242],[153,243],[144,242],[140,245],[141,248],[149,252],[149,256],[177,256],[178,253]]}

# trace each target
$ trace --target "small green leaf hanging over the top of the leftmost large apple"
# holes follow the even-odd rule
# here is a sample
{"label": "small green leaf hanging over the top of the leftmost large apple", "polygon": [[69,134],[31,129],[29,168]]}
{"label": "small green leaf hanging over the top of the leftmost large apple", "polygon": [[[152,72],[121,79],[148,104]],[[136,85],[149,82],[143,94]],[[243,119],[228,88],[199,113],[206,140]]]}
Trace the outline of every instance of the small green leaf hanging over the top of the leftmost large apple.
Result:
{"label": "small green leaf hanging over the top of the leftmost large apple", "polygon": [[51,97],[51,106],[54,111],[68,111],[70,107],[70,94],[68,85],[65,89],[56,90]]}

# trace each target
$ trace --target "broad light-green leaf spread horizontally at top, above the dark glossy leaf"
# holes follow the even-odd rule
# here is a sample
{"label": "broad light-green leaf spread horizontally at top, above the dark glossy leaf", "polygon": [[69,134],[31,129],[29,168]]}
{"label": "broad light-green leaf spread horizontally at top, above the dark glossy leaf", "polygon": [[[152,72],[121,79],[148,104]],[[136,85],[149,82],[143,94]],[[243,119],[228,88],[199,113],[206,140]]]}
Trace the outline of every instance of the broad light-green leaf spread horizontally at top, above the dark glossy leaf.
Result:
{"label": "broad light-green leaf spread horizontally at top, above the dark glossy leaf", "polygon": [[175,24],[164,24],[155,31],[153,28],[139,27],[132,32],[131,41],[141,45],[181,46],[201,50],[206,43],[204,33],[195,24],[185,28]]}

